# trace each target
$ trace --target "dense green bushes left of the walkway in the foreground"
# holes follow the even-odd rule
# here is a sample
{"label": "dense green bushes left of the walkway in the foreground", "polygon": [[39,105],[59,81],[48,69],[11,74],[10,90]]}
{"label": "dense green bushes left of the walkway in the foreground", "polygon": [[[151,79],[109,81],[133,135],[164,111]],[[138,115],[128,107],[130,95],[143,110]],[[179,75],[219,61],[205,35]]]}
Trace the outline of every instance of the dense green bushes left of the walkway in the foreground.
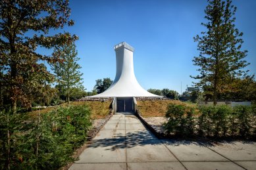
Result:
{"label": "dense green bushes left of the walkway in the foreground", "polygon": [[72,153],[86,140],[90,114],[86,105],[38,111],[33,119],[1,112],[1,169],[58,169],[73,161]]}

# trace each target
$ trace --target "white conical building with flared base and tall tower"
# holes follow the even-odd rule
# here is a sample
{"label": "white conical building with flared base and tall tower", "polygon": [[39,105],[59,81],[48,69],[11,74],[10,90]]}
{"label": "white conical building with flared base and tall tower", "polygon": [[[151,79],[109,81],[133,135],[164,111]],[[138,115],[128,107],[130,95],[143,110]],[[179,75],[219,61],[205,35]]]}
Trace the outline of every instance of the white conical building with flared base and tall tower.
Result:
{"label": "white conical building with flared base and tall tower", "polygon": [[126,42],[115,45],[116,51],[116,77],[109,89],[91,97],[136,97],[153,95],[145,91],[138,83],[134,74],[133,54],[134,48]]}

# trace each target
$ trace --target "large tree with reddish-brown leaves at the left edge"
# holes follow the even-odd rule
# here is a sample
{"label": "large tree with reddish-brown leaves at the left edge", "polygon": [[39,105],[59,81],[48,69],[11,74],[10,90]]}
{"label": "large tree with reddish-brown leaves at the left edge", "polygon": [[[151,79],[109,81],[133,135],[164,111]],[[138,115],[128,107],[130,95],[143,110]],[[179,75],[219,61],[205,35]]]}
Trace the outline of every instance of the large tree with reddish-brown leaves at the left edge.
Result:
{"label": "large tree with reddish-brown leaves at the left edge", "polygon": [[13,113],[17,102],[30,105],[30,93],[45,81],[53,81],[41,61],[59,62],[56,56],[38,53],[42,47],[52,49],[78,39],[70,33],[49,35],[49,30],[72,26],[66,0],[9,1],[0,3],[0,67],[3,84],[10,91]]}

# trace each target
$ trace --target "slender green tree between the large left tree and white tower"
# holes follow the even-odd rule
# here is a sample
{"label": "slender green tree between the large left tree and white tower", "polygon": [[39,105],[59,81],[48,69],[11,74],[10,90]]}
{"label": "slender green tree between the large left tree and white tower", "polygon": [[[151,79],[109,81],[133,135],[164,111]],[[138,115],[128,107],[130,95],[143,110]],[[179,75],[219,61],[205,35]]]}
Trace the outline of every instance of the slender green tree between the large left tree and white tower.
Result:
{"label": "slender green tree between the large left tree and white tower", "polygon": [[54,56],[59,57],[63,62],[57,62],[53,64],[53,71],[57,77],[57,82],[61,87],[61,93],[66,96],[66,101],[70,100],[70,89],[80,89],[84,91],[84,86],[82,85],[82,73],[80,73],[81,66],[77,63],[80,60],[77,57],[76,45],[74,43],[69,45],[63,45],[63,47],[56,47],[54,51]]}

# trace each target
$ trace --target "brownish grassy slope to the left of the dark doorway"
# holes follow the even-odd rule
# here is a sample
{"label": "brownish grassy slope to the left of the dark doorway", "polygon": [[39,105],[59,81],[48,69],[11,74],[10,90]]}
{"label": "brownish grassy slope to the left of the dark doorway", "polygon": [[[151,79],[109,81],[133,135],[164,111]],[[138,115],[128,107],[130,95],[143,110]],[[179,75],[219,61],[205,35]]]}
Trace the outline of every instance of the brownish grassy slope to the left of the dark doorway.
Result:
{"label": "brownish grassy slope to the left of the dark doorway", "polygon": [[[83,105],[83,104],[87,104],[90,108],[91,108],[91,117],[92,119],[101,119],[104,118],[105,116],[107,116],[109,114],[109,106],[111,104],[112,101],[105,101],[105,102],[101,102],[101,101],[80,101],[80,102],[70,102],[71,105]],[[64,104],[64,106],[66,106],[66,104]],[[53,110],[55,107],[53,108],[45,108],[43,110],[40,110],[40,113],[47,113],[50,112],[51,110]],[[33,111],[31,112],[32,115],[37,114],[38,111]]]}

